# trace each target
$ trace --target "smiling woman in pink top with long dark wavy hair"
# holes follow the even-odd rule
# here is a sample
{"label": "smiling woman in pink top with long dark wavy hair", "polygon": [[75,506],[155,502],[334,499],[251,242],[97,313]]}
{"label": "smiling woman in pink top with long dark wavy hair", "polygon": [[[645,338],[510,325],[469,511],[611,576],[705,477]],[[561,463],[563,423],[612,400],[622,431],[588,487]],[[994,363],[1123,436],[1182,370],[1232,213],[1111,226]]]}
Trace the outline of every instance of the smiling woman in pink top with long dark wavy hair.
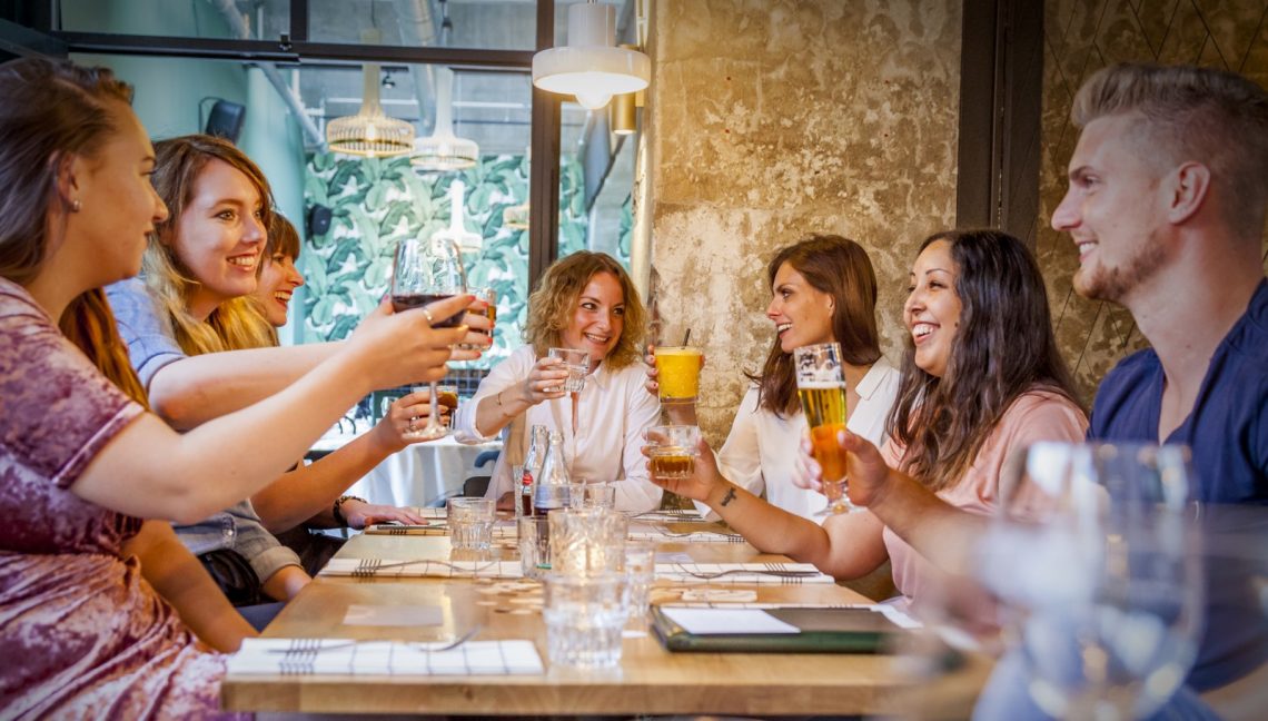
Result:
{"label": "smiling woman in pink top with long dark wavy hair", "polygon": [[[952,505],[988,513],[1013,451],[1040,439],[1083,439],[1087,415],[1056,349],[1044,278],[1019,240],[988,230],[927,239],[903,320],[910,335],[886,421],[891,466]],[[820,527],[732,484],[708,452],[692,479],[662,485],[709,504],[762,551],[838,579],[861,578],[888,559],[898,590],[918,599],[935,575],[871,512],[834,515]]]}

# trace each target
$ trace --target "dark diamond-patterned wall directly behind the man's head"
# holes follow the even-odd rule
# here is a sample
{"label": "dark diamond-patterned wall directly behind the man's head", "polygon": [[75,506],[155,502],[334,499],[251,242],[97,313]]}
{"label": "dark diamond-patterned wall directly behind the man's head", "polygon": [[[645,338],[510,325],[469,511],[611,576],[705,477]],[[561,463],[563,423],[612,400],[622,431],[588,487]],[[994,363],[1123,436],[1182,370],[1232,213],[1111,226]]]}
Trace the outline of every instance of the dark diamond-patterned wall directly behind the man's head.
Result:
{"label": "dark diamond-patterned wall directly behind the man's head", "polygon": [[[1084,399],[1125,354],[1145,345],[1131,315],[1071,288],[1078,253],[1050,226],[1066,189],[1078,128],[1074,93],[1116,62],[1194,63],[1241,72],[1268,86],[1268,0],[1047,0],[1044,18],[1044,116],[1036,250],[1047,279],[1061,350]],[[1268,270],[1268,235],[1264,240]]]}

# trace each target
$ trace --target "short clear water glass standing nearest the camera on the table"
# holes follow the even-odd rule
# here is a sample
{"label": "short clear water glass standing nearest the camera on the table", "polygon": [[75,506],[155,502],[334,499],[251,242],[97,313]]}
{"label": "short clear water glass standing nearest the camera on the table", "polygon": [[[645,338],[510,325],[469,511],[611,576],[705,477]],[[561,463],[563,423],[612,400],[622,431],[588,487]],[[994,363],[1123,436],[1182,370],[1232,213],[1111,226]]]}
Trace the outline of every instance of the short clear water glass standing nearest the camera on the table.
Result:
{"label": "short clear water glass standing nearest the camera on the table", "polygon": [[[558,515],[555,512],[552,517]],[[629,616],[625,574],[545,576],[547,656],[574,669],[605,669],[621,661],[621,630]]]}

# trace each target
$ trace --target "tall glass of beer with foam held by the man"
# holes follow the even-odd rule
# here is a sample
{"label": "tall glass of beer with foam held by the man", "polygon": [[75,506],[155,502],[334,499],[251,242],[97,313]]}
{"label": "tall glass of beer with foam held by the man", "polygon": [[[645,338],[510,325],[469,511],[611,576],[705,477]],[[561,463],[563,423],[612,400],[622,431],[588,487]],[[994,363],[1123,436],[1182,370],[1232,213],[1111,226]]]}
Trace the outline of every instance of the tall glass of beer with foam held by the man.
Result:
{"label": "tall glass of beer with foam held by the man", "polygon": [[792,352],[796,394],[805,423],[810,427],[814,460],[823,468],[823,495],[828,506],[815,515],[857,510],[846,495],[846,452],[837,433],[846,429],[846,376],[841,369],[841,345],[820,343]]}

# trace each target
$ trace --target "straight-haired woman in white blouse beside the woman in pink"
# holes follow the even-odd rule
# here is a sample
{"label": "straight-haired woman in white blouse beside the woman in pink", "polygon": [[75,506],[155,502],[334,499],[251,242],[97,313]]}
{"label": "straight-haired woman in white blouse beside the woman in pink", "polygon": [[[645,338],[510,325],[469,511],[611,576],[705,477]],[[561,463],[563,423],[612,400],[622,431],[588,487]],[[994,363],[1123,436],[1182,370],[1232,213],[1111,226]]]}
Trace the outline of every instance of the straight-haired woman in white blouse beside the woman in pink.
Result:
{"label": "straight-haired woman in white blouse beside the woman in pink", "polygon": [[[785,246],[767,265],[771,303],[766,317],[775,340],[760,374],[744,394],[730,435],[718,453],[723,476],[779,508],[823,520],[823,494],[792,484],[805,415],[796,396],[792,350],[841,344],[850,415],[846,427],[872,443],[885,439],[885,416],[898,396],[899,373],[881,355],[876,331],[876,274],[857,242],[812,235]],[[656,392],[654,376],[648,390]],[[695,423],[695,409],[671,409],[676,423]],[[709,509],[697,504],[701,513]]]}

